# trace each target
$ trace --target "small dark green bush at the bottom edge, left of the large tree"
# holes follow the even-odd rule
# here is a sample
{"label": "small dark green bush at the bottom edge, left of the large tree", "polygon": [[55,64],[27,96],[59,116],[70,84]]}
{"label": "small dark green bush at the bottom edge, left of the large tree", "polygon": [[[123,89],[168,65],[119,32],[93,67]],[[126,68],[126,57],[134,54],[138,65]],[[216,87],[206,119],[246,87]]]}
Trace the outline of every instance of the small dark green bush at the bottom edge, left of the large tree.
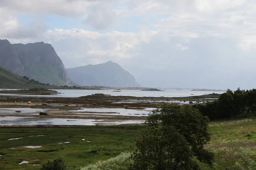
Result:
{"label": "small dark green bush at the bottom edge, left of the large tree", "polygon": [[67,170],[67,162],[62,156],[54,160],[47,160],[39,170]]}

